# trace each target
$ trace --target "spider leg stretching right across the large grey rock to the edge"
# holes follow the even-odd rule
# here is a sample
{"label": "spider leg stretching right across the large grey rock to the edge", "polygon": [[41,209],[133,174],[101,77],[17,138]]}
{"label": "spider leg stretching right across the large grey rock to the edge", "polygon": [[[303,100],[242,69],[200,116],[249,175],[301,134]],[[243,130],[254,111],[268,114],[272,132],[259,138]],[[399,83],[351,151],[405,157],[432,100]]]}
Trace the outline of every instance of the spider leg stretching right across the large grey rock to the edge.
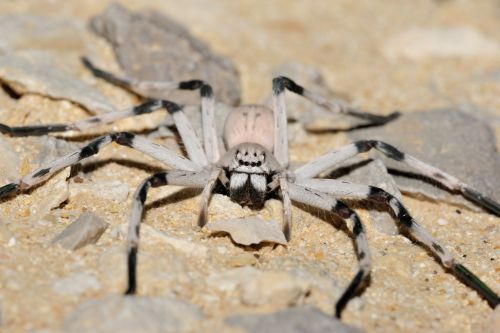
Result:
{"label": "spider leg stretching right across the large grey rock to the edge", "polygon": [[297,177],[316,177],[320,173],[329,170],[335,165],[344,162],[345,160],[354,157],[357,154],[367,152],[372,148],[375,148],[376,150],[382,152],[384,155],[393,160],[409,165],[424,176],[435,180],[446,188],[452,191],[460,192],[464,197],[474,201],[476,204],[486,208],[495,215],[500,216],[499,203],[482,195],[478,191],[471,188],[469,185],[445,173],[444,171],[425,162],[422,162],[411,155],[403,153],[390,144],[378,140],[360,140],[339,149],[333,150],[301,166],[300,168],[295,170],[295,173]]}

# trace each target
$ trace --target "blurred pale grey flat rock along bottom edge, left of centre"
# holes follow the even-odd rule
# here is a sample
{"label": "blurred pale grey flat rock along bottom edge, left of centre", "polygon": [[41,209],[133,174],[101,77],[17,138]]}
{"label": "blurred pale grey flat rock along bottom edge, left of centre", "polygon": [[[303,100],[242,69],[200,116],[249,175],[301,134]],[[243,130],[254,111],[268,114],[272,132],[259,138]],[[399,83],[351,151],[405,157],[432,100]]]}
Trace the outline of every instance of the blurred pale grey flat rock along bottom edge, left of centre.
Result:
{"label": "blurred pale grey flat rock along bottom edge, left of centre", "polygon": [[64,320],[64,332],[152,333],[192,331],[200,309],[172,298],[113,295],[87,301]]}

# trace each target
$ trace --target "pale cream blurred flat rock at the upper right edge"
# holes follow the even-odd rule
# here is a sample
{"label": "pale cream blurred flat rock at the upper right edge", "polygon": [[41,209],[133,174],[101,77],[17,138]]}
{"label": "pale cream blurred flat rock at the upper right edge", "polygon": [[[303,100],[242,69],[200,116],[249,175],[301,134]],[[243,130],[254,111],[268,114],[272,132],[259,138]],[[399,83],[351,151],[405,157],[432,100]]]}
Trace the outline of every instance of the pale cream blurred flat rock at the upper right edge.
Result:
{"label": "pale cream blurred flat rock at the upper right edge", "polygon": [[472,27],[412,28],[384,44],[389,59],[412,60],[448,57],[495,57],[500,46]]}

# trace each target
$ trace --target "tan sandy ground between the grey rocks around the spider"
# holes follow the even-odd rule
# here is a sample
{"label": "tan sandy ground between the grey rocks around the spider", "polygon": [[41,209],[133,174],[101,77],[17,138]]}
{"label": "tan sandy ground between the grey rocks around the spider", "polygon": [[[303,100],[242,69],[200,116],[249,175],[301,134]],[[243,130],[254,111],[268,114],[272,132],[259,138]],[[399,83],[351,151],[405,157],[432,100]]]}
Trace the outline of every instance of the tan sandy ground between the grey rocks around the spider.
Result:
{"label": "tan sandy ground between the grey rocks around the spider", "polygon": [[[85,21],[99,13],[107,1],[3,1],[0,13],[31,13],[74,17]],[[387,41],[412,28],[473,28],[500,44],[500,4],[498,1],[121,1],[130,9],[153,7],[185,24],[214,51],[233,59],[241,73],[244,102],[260,102],[270,91],[273,66],[294,60],[320,69],[333,89],[346,92],[353,103],[367,110],[389,113],[433,109],[469,103],[500,115],[500,56],[391,59]],[[104,51],[103,51],[104,52]],[[103,57],[110,59],[109,50]],[[495,73],[497,78],[495,79]],[[88,74],[82,74],[87,75]],[[132,96],[97,85],[117,106],[135,102]],[[40,119],[32,110],[61,109],[44,113],[44,122],[81,119],[88,114],[76,107],[40,96],[25,96],[18,103],[19,114],[9,114],[11,124]],[[21,112],[19,111],[19,112]],[[142,117],[145,122],[157,120]],[[135,122],[121,122],[113,129],[134,128]],[[499,132],[498,126],[496,128]],[[9,139],[24,158],[23,172],[33,168],[35,152],[24,139]],[[498,139],[497,139],[498,141]],[[347,142],[343,134],[310,135],[306,143],[291,147],[292,159],[304,162]],[[159,165],[153,160],[122,147],[102,152],[92,170],[92,181],[116,179],[128,184],[132,192],[139,182]],[[130,163],[130,161],[140,161]],[[499,170],[500,172],[500,170]],[[66,175],[57,176],[63,179]],[[56,177],[56,178],[57,178]],[[59,180],[60,180],[59,179]],[[55,181],[54,181],[55,182]],[[44,185],[45,186],[45,185]],[[17,243],[0,243],[0,309],[3,332],[30,329],[57,331],[63,318],[83,301],[120,293],[125,285],[123,237],[113,232],[126,223],[131,196],[124,202],[95,200],[90,195],[70,196],[62,207],[52,210],[42,221],[29,220],[30,204],[42,200],[38,195],[21,195],[5,203],[11,216],[9,231]],[[49,190],[50,189],[50,190]],[[213,320],[244,311],[273,311],[283,306],[255,307],[232,303],[230,297],[213,293],[203,283],[218,270],[239,266],[272,266],[287,256],[301,263],[311,260],[318,269],[346,285],[356,269],[352,242],[332,228],[325,214],[294,208],[294,238],[287,248],[263,247],[259,250],[234,246],[227,237],[208,237],[195,227],[196,198],[176,195],[160,200],[177,189],[152,191],[145,223],[166,233],[203,244],[209,259],[176,257],[171,248],[143,242],[140,294],[164,295],[172,291],[202,306]],[[405,204],[421,223],[448,245],[452,253],[476,272],[496,291],[500,291],[500,243],[497,217],[457,207],[405,197]],[[220,204],[218,204],[220,203]],[[167,205],[168,204],[168,205]],[[213,206],[224,207],[222,198]],[[279,219],[279,210],[268,208],[264,216]],[[76,252],[48,243],[83,211],[94,211],[111,227],[96,245]],[[366,211],[361,216],[369,220]],[[225,216],[216,208],[211,218]],[[21,222],[19,222],[21,221]],[[438,221],[445,221],[438,223]],[[14,223],[19,222],[19,223]],[[461,284],[432,259],[426,250],[402,236],[389,236],[367,223],[373,249],[371,284],[347,308],[344,320],[368,332],[478,332],[492,310],[477,294]],[[224,248],[224,255],[218,249]],[[253,261],[254,254],[258,260]],[[249,257],[251,257],[249,259]],[[238,259],[239,258],[239,259]],[[267,265],[267,266],[266,266]],[[285,264],[276,264],[277,267]],[[97,277],[99,287],[82,294],[61,295],[50,287],[54,281],[85,271]],[[161,273],[161,274],[160,274]],[[170,276],[169,276],[170,274]],[[338,295],[332,295],[333,299]],[[333,299],[311,297],[312,303],[333,313]]]}

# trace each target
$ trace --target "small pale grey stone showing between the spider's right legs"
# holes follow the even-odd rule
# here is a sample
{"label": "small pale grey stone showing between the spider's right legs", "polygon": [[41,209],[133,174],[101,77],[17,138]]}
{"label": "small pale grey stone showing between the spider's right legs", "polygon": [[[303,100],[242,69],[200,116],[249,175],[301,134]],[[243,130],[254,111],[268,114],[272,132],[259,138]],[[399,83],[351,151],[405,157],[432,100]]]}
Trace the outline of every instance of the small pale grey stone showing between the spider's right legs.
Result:
{"label": "small pale grey stone showing between the spider's right legs", "polygon": [[[345,166],[344,170],[350,169],[349,173],[341,177],[335,177],[341,180],[347,180],[352,183],[367,184],[380,187],[399,200],[403,200],[401,192],[398,189],[394,178],[389,175],[384,163],[379,160],[351,160],[349,166]],[[370,203],[372,204],[372,203]],[[396,221],[387,211],[385,205],[374,205],[374,209],[370,209],[370,218],[377,230],[388,235],[398,234]]]}

